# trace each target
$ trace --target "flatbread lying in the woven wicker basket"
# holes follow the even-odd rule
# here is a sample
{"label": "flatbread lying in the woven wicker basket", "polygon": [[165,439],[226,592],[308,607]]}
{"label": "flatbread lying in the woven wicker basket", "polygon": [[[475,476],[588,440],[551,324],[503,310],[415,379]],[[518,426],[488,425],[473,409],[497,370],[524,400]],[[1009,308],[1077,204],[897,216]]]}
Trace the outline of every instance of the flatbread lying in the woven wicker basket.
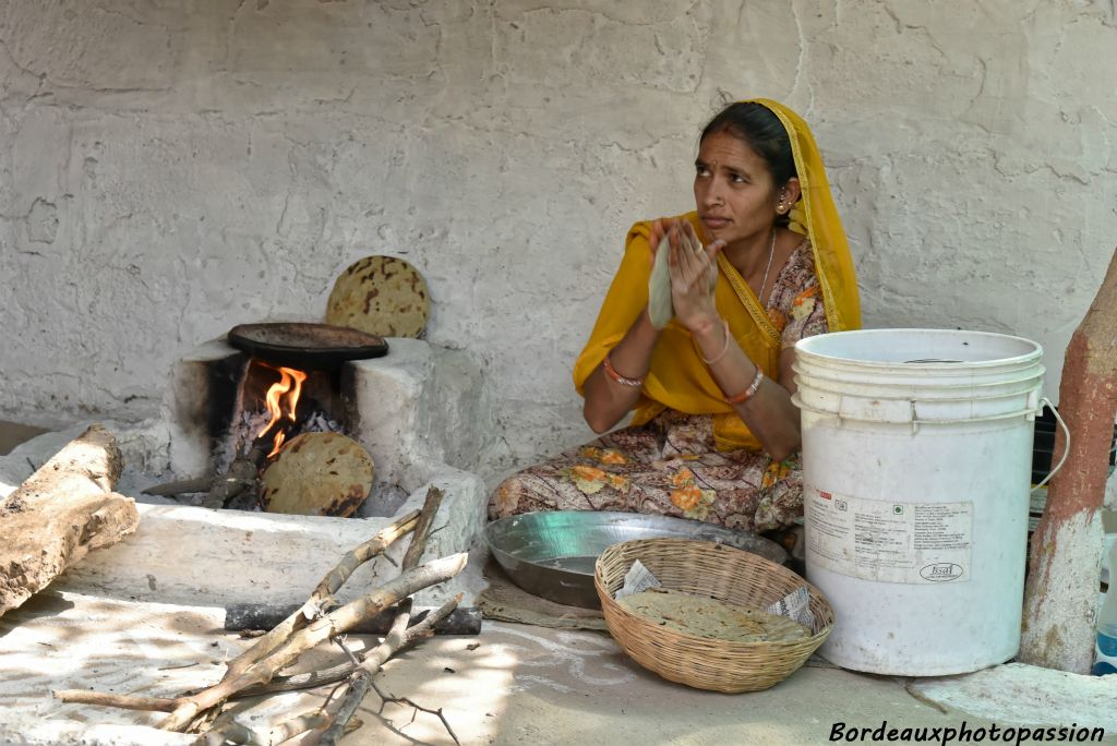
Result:
{"label": "flatbread lying in the woven wicker basket", "polygon": [[786,616],[678,591],[651,589],[617,603],[655,624],[712,640],[790,642],[811,637],[805,627]]}

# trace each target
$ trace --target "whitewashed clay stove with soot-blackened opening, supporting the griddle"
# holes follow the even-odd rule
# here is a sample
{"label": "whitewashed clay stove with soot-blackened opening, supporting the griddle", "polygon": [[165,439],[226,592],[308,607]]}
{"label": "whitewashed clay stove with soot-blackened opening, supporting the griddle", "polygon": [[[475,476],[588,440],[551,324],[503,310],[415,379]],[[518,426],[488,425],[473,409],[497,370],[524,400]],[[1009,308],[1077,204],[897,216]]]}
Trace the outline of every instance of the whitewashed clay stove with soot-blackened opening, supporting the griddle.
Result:
{"label": "whitewashed clay stove with soot-blackened opening, supporting the griddle", "polygon": [[[283,384],[279,366],[299,370],[306,379],[299,385],[296,422],[283,414],[273,425],[285,430],[274,459],[284,459],[285,449],[303,433],[352,438],[375,462],[374,489],[357,510],[362,516],[393,515],[430,477],[431,465],[469,470],[489,442],[493,421],[483,376],[466,351],[432,351],[424,342],[400,339],[381,358],[319,365],[313,358],[252,356],[222,339],[206,343],[174,366],[168,412],[174,470],[169,476],[209,481],[226,475],[237,456],[254,446],[262,448],[260,466],[266,466],[262,457],[275,449],[275,433],[257,441],[274,418],[267,392]],[[294,377],[289,385],[294,393]],[[288,396],[276,403],[290,412]],[[261,509],[248,497],[226,507]]]}

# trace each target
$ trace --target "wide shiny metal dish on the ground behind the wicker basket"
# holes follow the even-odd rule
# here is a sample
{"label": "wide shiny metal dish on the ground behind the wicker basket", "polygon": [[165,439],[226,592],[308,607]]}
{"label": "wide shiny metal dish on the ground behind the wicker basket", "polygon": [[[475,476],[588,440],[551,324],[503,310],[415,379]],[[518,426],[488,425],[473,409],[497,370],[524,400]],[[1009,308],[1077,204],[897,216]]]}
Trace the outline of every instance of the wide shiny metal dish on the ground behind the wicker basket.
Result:
{"label": "wide shiny metal dish on the ground behind the wicker basket", "polygon": [[697,520],[608,510],[547,510],[494,520],[485,527],[489,551],[528,593],[571,606],[600,609],[593,565],[607,547],[637,538],[703,539],[784,564],[782,546],[755,534]]}

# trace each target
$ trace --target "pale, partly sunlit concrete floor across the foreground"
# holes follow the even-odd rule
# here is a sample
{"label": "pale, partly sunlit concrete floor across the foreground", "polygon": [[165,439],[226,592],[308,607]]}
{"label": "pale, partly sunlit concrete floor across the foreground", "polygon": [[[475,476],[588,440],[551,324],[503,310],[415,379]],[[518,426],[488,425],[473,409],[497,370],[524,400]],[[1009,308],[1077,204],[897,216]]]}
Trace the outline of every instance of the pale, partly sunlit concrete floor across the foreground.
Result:
{"label": "pale, partly sunlit concrete floor across the foreground", "polygon": [[[274,551],[283,552],[276,544]],[[256,551],[269,545],[259,543]],[[229,560],[233,570],[238,563],[273,561],[262,555]],[[166,573],[181,564],[160,568],[161,589],[171,587]],[[50,697],[59,688],[173,696],[216,681],[222,663],[247,644],[221,629],[223,612],[203,589],[193,597],[154,603],[105,587],[74,573],[0,618],[0,745],[191,742],[153,729],[157,715],[61,705]],[[812,659],[766,691],[719,695],[658,678],[602,633],[486,622],[476,638],[424,641],[391,661],[380,682],[388,692],[442,708],[462,744],[823,744],[831,743],[837,724],[848,730],[882,723],[886,734],[892,727],[943,728],[933,743],[944,743],[949,728],[973,731],[995,724],[1105,728],[1111,735],[1100,743],[1117,744],[1117,677],[1022,664],[909,680]],[[239,706],[240,717],[258,725],[316,707],[325,696],[249,701]],[[344,744],[452,743],[436,717],[395,705],[381,710],[374,695],[359,717],[363,726]],[[870,733],[865,740],[871,739]]]}

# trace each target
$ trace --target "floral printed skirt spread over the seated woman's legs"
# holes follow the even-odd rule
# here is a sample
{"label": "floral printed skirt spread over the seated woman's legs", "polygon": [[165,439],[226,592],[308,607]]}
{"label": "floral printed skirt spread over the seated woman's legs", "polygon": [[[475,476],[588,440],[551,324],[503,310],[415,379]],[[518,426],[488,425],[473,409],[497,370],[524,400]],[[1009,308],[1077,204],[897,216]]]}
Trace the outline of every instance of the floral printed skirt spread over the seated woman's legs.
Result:
{"label": "floral printed skirt spread over the seated woman's legs", "polygon": [[799,455],[714,448],[709,415],[668,410],[505,479],[489,518],[532,510],[624,510],[762,532],[803,515]]}

